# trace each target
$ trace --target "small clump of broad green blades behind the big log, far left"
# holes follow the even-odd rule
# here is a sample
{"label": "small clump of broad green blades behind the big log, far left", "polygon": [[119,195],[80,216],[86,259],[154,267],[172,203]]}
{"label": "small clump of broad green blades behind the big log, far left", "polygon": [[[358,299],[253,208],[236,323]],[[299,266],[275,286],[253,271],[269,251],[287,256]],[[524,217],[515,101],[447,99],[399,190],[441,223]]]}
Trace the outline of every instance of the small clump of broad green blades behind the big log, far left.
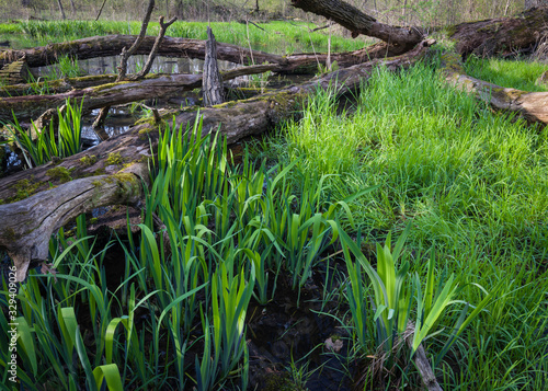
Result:
{"label": "small clump of broad green blades behind the big log, far left", "polygon": [[21,127],[18,118],[13,117],[12,135],[23,150],[30,168],[33,164],[45,164],[54,157],[67,158],[82,150],[82,104],[83,101],[80,105],[78,103],[73,105],[67,100],[65,108],[57,108],[57,129],[55,129],[55,120],[52,119],[49,129],[38,129],[33,122],[32,130],[26,131]]}

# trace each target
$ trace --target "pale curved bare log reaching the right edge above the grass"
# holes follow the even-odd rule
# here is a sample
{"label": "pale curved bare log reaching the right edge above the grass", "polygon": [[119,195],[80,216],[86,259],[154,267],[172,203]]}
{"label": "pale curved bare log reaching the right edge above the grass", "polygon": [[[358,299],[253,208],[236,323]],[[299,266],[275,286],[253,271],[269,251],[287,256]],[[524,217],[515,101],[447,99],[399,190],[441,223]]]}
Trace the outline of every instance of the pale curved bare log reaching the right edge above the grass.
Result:
{"label": "pale curved bare log reaching the right edge above the grass", "polygon": [[548,92],[526,92],[504,88],[467,76],[456,54],[445,54],[443,70],[446,80],[496,110],[516,112],[529,122],[548,124]]}

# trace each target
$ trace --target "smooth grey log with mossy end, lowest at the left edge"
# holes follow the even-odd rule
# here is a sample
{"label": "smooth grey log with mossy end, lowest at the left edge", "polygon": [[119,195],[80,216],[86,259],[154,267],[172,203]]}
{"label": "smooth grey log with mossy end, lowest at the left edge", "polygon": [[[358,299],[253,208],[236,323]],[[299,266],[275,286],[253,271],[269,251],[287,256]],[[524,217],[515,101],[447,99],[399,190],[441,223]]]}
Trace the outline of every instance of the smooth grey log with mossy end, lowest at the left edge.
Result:
{"label": "smooth grey log with mossy end, lowest at the left edge", "polygon": [[0,221],[11,222],[2,228],[0,248],[13,260],[18,280],[25,278],[32,260],[47,260],[47,243],[65,223],[100,206],[138,204],[147,177],[147,164],[137,163],[113,175],[75,180],[24,202],[0,205]]}

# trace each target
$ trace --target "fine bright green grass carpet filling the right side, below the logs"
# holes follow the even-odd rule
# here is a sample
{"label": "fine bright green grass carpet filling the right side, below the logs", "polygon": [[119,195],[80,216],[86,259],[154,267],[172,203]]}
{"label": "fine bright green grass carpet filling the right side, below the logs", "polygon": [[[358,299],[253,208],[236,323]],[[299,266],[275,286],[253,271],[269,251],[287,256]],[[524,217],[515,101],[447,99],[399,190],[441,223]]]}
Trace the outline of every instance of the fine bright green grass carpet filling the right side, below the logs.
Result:
{"label": "fine bright green grass carpet filling the right side, below the logs", "polygon": [[[296,171],[327,175],[322,199],[378,186],[349,203],[366,255],[372,253],[366,243],[383,242],[389,232],[411,225],[411,275],[426,279],[422,254],[433,249],[446,275],[459,276],[465,302],[484,298],[472,284],[491,292],[506,280],[448,350],[446,357],[458,368],[442,363],[439,370],[449,389],[493,389],[503,384],[501,378],[514,379],[512,387],[541,389],[539,378],[546,377],[539,368],[546,367],[547,356],[535,330],[544,330],[537,325],[547,321],[537,307],[548,288],[541,266],[548,244],[543,222],[548,215],[547,147],[546,128],[492,113],[447,87],[433,67],[418,65],[397,74],[377,68],[352,112],[341,114],[333,94],[319,92],[302,119],[289,124],[263,153],[296,161]],[[293,183],[301,186],[297,176]],[[537,288],[529,285],[533,280]],[[438,320],[447,337],[458,317],[448,311]],[[524,326],[526,336],[520,331]],[[513,342],[513,349],[498,338]],[[540,340],[546,343],[547,335]],[[443,350],[438,338],[426,341],[431,352]],[[467,352],[466,359],[460,352]],[[480,358],[492,373],[469,365]]]}

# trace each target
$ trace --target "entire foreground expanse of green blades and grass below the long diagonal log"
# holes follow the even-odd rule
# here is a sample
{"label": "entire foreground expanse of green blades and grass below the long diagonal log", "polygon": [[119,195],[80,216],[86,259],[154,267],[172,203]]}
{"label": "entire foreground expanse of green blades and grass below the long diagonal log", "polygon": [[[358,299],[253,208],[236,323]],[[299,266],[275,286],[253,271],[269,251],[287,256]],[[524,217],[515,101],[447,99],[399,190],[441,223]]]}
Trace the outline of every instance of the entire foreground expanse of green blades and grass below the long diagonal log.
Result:
{"label": "entire foreground expanse of green blades and grass below the long diagonal log", "polygon": [[[201,137],[201,126],[190,135],[162,128],[140,234],[128,227],[127,239],[99,248],[80,217],[75,238],[61,229],[50,241],[58,281],[32,272],[15,299],[2,288],[2,309],[18,303],[25,389],[95,390],[101,373],[125,388],[244,389],[250,302],[278,299],[276,281],[285,278],[298,303],[329,258],[350,271],[350,281],[333,272],[338,289],[321,287],[324,301],[340,302],[329,315],[353,335],[341,360],[347,373],[370,364],[408,315],[421,320],[432,309],[435,321],[422,319],[419,337],[437,333],[423,340],[433,359],[449,347],[435,368],[444,389],[545,389],[548,128],[493,114],[426,65],[375,70],[352,111],[318,92],[302,119],[264,141],[273,165],[248,153],[231,165],[226,142]],[[387,238],[402,232],[406,245],[395,240],[391,249]],[[114,284],[103,265],[111,246],[124,263]],[[378,273],[378,284],[361,267],[369,278]],[[478,306],[495,291],[484,311],[468,310],[477,318],[452,340],[465,302]],[[432,296],[443,307],[460,301],[434,311]],[[416,306],[407,311],[401,298]],[[388,308],[396,306],[400,314]],[[8,323],[0,311],[3,330]],[[2,367],[8,353],[2,333]],[[381,380],[401,376],[419,387],[413,368],[396,369]]]}

